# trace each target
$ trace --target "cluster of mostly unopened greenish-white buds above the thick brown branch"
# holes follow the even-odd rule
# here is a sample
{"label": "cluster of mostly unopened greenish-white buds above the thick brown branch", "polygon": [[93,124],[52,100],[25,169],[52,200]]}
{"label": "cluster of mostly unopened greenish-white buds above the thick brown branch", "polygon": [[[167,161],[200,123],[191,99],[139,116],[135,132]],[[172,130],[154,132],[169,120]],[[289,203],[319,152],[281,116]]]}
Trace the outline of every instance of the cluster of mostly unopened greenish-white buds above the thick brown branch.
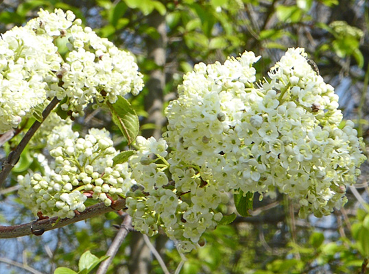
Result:
{"label": "cluster of mostly unopened greenish-white buds above the thick brown branch", "polygon": [[90,129],[85,138],[78,138],[71,125],[62,125],[49,140],[55,159],[49,173],[18,177],[19,195],[35,215],[72,218],[75,210],[84,211],[88,197],[110,206],[136,184],[128,163],[113,166],[118,152],[105,129]]}

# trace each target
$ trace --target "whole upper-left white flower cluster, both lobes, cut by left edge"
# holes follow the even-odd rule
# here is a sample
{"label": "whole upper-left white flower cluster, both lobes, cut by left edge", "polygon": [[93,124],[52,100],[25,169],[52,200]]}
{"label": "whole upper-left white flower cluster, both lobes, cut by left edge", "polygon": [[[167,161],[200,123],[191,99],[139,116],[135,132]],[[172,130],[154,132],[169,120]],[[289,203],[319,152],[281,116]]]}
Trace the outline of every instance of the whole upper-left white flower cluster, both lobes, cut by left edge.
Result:
{"label": "whole upper-left white flower cluster, both lobes, cut by left edge", "polygon": [[66,97],[62,109],[78,116],[93,99],[115,103],[143,88],[134,57],[81,27],[73,12],[38,15],[0,39],[0,134],[54,96]]}

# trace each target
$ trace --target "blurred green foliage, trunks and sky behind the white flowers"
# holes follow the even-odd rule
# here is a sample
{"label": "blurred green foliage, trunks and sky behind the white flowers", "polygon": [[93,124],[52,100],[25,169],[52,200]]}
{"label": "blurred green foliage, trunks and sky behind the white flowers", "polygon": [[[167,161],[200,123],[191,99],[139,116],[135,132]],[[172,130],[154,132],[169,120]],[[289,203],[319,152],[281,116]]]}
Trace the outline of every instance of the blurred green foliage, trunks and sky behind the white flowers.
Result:
{"label": "blurred green foliage, trunks and sky behind the white flowers", "polygon": [[[368,1],[5,0],[0,5],[0,32],[22,25],[40,8],[72,10],[99,36],[136,55],[146,87],[130,103],[140,114],[145,136],[160,136],[165,127],[163,108],[176,97],[182,74],[193,64],[223,62],[228,55],[248,50],[262,55],[257,73],[264,75],[285,49],[305,47],[325,82],[335,86],[344,115],[355,121],[359,136],[368,142]],[[110,129],[116,133],[117,148],[126,147],[106,112],[87,110],[75,125],[82,134],[91,127]],[[0,150],[1,157],[22,134]],[[32,221],[32,213],[16,196],[14,178],[39,168],[26,149],[0,191],[3,225]],[[296,206],[282,195],[263,201],[255,197],[252,216],[238,216],[232,225],[206,234],[206,245],[186,255],[181,273],[369,273],[368,171],[363,164],[359,181],[348,190],[345,208],[322,219],[298,219]],[[42,237],[0,240],[0,272],[29,273],[25,266],[40,273],[53,273],[58,266],[78,271],[85,251],[99,258],[105,255],[116,233],[113,225],[120,223],[121,216],[111,212]],[[151,240],[169,271],[174,271],[182,260],[174,243],[163,235]],[[163,269],[141,236],[130,233],[108,273],[163,273]]]}

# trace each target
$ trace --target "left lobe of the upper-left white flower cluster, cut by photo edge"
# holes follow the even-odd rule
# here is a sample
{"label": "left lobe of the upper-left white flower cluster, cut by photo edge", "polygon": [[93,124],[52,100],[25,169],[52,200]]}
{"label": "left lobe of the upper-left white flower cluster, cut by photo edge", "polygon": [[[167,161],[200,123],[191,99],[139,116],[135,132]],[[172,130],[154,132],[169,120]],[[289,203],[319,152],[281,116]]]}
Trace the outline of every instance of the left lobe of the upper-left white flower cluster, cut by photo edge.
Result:
{"label": "left lobe of the upper-left white flower cluster, cut by photo edge", "polygon": [[23,116],[43,103],[51,75],[62,58],[52,41],[14,27],[0,39],[0,134],[17,127]]}

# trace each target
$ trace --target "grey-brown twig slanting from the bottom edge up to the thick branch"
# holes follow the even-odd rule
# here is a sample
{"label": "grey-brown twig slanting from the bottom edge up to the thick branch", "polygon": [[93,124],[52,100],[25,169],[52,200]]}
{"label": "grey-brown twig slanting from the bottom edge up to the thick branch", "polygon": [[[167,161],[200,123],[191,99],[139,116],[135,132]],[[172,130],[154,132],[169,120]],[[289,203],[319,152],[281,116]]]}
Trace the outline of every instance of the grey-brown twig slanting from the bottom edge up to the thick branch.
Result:
{"label": "grey-brown twig slanting from the bottom edge up to the thick branch", "polygon": [[133,229],[132,228],[132,217],[128,214],[125,214],[123,216],[123,222],[121,223],[119,227],[117,236],[115,236],[108,251],[106,251],[106,256],[109,256],[109,258],[104,260],[104,262],[100,264],[99,269],[97,269],[96,274],[105,274],[106,271],[108,271],[108,268],[112,262],[112,259],[114,259],[115,255],[117,254],[118,249],[121,246],[121,243],[128,235],[128,232],[131,232],[132,229]]}

